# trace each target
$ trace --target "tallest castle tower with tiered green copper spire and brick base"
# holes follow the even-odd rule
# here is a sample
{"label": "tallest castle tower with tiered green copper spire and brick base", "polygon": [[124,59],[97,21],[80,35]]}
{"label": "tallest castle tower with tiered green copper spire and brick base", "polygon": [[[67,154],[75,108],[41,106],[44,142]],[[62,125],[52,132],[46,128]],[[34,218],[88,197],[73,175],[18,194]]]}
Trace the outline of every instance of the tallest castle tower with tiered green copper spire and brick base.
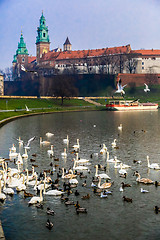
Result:
{"label": "tallest castle tower with tiered green copper spire and brick base", "polygon": [[50,42],[49,42],[49,35],[48,35],[48,26],[46,26],[46,19],[42,16],[39,20],[40,25],[37,28],[37,39],[36,39],[36,55],[37,55],[37,64],[39,63],[40,58],[42,57],[43,53],[47,53],[50,50]]}

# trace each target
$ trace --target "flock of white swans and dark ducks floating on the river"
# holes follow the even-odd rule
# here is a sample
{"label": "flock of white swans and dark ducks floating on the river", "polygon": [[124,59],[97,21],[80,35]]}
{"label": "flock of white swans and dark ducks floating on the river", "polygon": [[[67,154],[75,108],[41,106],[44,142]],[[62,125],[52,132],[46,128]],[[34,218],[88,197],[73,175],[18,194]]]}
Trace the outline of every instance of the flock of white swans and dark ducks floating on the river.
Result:
{"label": "flock of white swans and dark ducks floating on the river", "polygon": [[[122,131],[122,124],[118,126],[118,131]],[[47,195],[53,197],[59,197],[61,201],[65,203],[65,205],[75,205],[76,213],[87,213],[87,209],[81,207],[79,201],[75,203],[73,200],[69,199],[75,194],[75,196],[81,195],[81,189],[86,188],[86,191],[89,191],[87,195],[82,196],[82,199],[89,199],[90,192],[92,191],[100,198],[108,198],[108,195],[112,194],[112,185],[114,184],[114,179],[107,174],[107,169],[112,168],[118,171],[119,177],[123,178],[127,181],[128,171],[131,171],[132,165],[128,165],[123,163],[121,160],[114,156],[110,158],[110,153],[108,147],[103,143],[101,144],[100,150],[97,153],[93,153],[90,155],[88,159],[81,158],[80,156],[80,141],[77,139],[77,142],[69,146],[69,136],[62,140],[64,144],[64,152],[61,153],[61,158],[56,159],[54,154],[54,134],[46,133],[46,137],[49,140],[42,140],[40,137],[39,144],[40,146],[47,152],[49,159],[52,160],[50,164],[49,171],[39,172],[35,171],[35,167],[32,165],[32,171],[24,168],[24,160],[29,161],[29,156],[31,155],[32,150],[32,141],[36,139],[33,137],[28,140],[27,144],[24,145],[24,142],[19,137],[17,139],[19,147],[24,147],[24,153],[21,154],[17,152],[16,145],[13,144],[9,149],[9,159],[1,158],[1,169],[0,169],[0,201],[5,204],[5,200],[7,195],[13,196],[15,191],[24,192],[24,197],[28,197],[28,206],[34,205],[36,207],[41,207],[44,202],[47,202]],[[50,149],[46,150],[46,147],[50,147]],[[111,149],[118,149],[117,139],[114,139],[110,144]],[[47,147],[47,148],[48,148]],[[68,159],[67,153],[72,151],[73,158]],[[36,154],[32,154],[35,156]],[[94,158],[95,156],[95,158]],[[99,162],[100,156],[103,156],[105,159],[105,164],[101,165]],[[66,169],[63,166],[63,160],[70,161],[71,167]],[[58,167],[59,164],[55,164],[55,161],[59,161],[61,167]],[[36,160],[35,160],[36,161]],[[15,166],[13,167],[13,162]],[[134,162],[135,163],[135,162]],[[137,161],[138,164],[141,161]],[[150,163],[149,156],[146,156],[147,167],[152,170],[160,170],[160,165],[158,163]],[[9,166],[9,165],[12,165]],[[92,169],[92,171],[91,171]],[[94,169],[94,170],[93,170]],[[134,171],[135,181],[137,183],[143,184],[155,184],[156,186],[160,185],[159,182],[153,181],[149,178],[141,178],[141,175],[138,171]],[[83,178],[89,179],[85,180],[82,184]],[[80,188],[82,186],[82,188]],[[126,187],[131,187],[130,184],[122,182],[119,186],[119,191],[123,192],[123,200],[132,202],[132,199],[124,196],[124,190]],[[75,190],[76,189],[76,190]],[[141,193],[148,193],[149,191],[146,189],[140,188]],[[47,209],[49,207],[47,206]],[[51,210],[53,215],[54,210]],[[49,213],[47,213],[49,214]],[[51,229],[52,222],[48,220],[46,226],[50,226],[48,228]]]}

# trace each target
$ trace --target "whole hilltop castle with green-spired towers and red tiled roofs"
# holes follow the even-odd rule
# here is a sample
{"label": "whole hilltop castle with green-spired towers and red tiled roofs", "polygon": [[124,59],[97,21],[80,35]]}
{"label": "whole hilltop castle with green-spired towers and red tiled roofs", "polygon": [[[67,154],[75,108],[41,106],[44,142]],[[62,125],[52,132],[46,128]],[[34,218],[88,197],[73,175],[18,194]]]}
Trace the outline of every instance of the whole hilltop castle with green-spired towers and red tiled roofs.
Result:
{"label": "whole hilltop castle with green-spired towers and red tiled roofs", "polygon": [[36,37],[36,56],[29,56],[23,33],[13,59],[13,78],[21,79],[21,65],[26,69],[41,69],[44,76],[58,74],[160,74],[160,50],[132,50],[126,46],[72,50],[67,37],[63,50],[50,50],[48,26],[43,15]]}

